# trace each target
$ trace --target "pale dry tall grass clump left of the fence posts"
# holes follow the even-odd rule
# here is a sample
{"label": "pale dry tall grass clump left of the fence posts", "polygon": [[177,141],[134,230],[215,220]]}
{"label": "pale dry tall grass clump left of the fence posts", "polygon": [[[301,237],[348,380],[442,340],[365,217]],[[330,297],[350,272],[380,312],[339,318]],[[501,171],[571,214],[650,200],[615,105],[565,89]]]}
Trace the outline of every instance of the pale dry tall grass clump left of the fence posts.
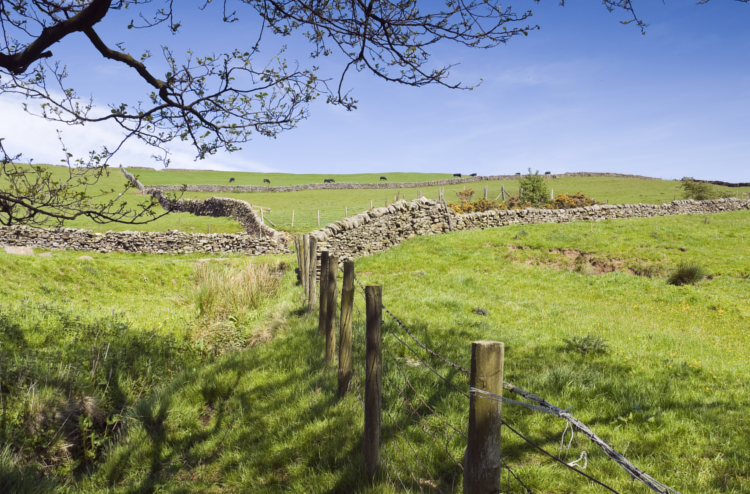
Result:
{"label": "pale dry tall grass clump left of the fence posts", "polygon": [[194,340],[214,350],[245,346],[252,323],[279,294],[281,279],[274,265],[198,263],[195,283],[184,296],[196,311]]}

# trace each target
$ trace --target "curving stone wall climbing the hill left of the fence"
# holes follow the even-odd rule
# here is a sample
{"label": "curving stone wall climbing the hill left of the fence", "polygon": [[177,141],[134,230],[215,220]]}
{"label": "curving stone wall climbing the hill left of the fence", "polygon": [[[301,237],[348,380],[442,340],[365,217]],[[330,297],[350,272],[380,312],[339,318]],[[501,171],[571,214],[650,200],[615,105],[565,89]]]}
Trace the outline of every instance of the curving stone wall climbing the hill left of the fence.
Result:
{"label": "curving stone wall climbing the hill left of the fence", "polygon": [[[165,211],[172,213],[190,213],[196,216],[211,216],[214,218],[233,218],[239,222],[249,235],[258,237],[271,237],[279,242],[286,243],[286,235],[277,232],[261,221],[255,209],[246,201],[232,199],[229,197],[211,197],[206,200],[199,199],[172,199],[163,191],[145,187],[131,173],[120,166],[125,178],[144,194],[150,194]],[[178,188],[182,190],[182,188]]]}

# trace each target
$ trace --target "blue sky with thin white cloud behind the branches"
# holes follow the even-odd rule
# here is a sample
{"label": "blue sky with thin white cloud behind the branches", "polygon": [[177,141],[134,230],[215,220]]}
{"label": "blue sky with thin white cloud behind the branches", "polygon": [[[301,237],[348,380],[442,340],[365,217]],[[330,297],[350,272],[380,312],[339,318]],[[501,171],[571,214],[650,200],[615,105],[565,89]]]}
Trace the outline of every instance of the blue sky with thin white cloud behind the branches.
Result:
{"label": "blue sky with thin white cloud behind the branches", "polygon": [[[643,36],[619,23],[627,18],[623,12],[609,13],[594,2],[557,3],[513,4],[532,9],[533,23],[541,26],[528,37],[492,50],[444,44],[433,53],[436,63],[460,64],[452,81],[483,80],[473,91],[416,89],[354,73],[346,86],[359,99],[358,110],[316,101],[308,120],[276,139],[257,137],[242,151],[198,162],[189,148],[177,145],[171,166],[480,175],[532,168],[750,181],[750,5],[635,1],[650,24]],[[200,13],[194,2],[181,2],[177,17],[183,28],[175,36],[124,29],[131,12],[112,16],[99,32],[110,45],[124,41],[137,53],[164,43],[196,54],[251,44],[257,27],[252,12],[239,10],[241,21],[224,25],[217,7]],[[262,56],[289,43],[287,58],[311,64],[302,39],[266,41]],[[104,60],[80,37],[53,51],[69,65],[74,87],[93,93],[102,106],[149,92],[131,70]],[[324,76],[336,77],[341,60],[325,60],[321,68]],[[0,101],[0,114],[0,136],[11,150],[37,162],[59,161],[55,125],[24,115],[19,102],[8,98]],[[89,125],[65,128],[64,137],[81,153],[111,145],[118,131]],[[150,154],[134,141],[114,164],[159,167]]]}

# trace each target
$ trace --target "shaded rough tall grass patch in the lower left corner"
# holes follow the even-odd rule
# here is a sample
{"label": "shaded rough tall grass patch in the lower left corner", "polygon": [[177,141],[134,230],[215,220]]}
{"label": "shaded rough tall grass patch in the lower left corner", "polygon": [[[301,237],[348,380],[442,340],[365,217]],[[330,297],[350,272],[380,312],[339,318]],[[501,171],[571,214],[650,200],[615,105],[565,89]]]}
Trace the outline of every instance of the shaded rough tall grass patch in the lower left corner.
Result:
{"label": "shaded rough tall grass patch in the lower left corner", "polygon": [[125,410],[199,361],[184,341],[134,330],[118,315],[0,306],[0,492],[34,492],[39,479],[27,467],[60,478],[92,467]]}

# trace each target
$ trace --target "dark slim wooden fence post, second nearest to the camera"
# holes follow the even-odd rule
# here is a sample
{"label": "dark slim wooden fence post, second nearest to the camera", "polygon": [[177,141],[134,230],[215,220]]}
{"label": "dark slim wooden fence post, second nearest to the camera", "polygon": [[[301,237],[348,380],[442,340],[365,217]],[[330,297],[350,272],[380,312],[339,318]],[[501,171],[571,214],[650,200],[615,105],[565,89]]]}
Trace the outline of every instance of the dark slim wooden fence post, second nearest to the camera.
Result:
{"label": "dark slim wooden fence post, second nearest to the camera", "polygon": [[365,470],[372,479],[380,467],[381,392],[383,356],[380,329],[383,324],[383,287],[365,287],[367,346],[365,363]]}

